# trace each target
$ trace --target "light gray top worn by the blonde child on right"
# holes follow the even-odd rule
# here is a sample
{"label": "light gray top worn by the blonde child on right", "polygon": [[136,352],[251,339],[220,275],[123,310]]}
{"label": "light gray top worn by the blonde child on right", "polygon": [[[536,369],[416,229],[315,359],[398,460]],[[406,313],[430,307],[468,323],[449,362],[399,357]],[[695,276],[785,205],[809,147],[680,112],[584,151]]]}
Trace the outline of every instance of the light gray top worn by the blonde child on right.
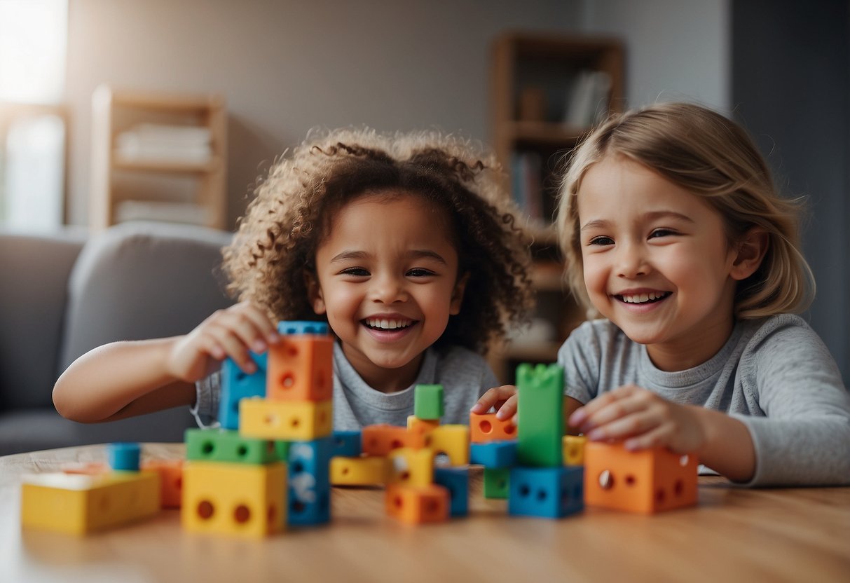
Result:
{"label": "light gray top worn by the blonde child on right", "polygon": [[564,342],[558,364],[566,394],[581,403],[635,384],[740,420],[756,450],[747,485],[850,484],[850,395],[829,350],[796,315],[741,320],[711,359],[677,372],[656,368],[646,346],[609,320],[593,320]]}

